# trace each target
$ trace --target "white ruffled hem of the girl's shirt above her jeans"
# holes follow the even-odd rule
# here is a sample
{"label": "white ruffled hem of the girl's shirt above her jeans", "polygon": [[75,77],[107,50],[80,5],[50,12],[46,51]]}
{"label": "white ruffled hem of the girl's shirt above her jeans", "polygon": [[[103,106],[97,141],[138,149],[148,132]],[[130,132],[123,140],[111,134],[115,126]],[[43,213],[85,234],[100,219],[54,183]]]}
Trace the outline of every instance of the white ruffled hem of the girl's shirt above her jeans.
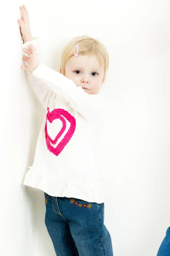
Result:
{"label": "white ruffled hem of the girl's shirt above her jeans", "polygon": [[82,181],[58,180],[42,172],[37,172],[34,167],[29,167],[24,185],[40,189],[48,195],[56,197],[78,198],[90,203],[102,204],[108,197],[103,181],[82,184]]}

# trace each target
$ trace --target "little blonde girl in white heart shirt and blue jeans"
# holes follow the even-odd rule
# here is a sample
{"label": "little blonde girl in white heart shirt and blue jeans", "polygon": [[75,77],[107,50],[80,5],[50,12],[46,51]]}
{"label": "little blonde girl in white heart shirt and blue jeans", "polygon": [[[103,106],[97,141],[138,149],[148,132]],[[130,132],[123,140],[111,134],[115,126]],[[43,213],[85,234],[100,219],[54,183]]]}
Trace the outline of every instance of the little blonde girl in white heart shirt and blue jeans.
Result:
{"label": "little blonde girl in white heart shirt and blue jeans", "polygon": [[108,52],[99,41],[80,36],[64,48],[59,73],[51,70],[40,63],[40,40],[31,36],[26,7],[20,9],[22,66],[46,111],[24,184],[45,192],[45,225],[57,256],[113,256],[104,225],[103,103],[97,94]]}

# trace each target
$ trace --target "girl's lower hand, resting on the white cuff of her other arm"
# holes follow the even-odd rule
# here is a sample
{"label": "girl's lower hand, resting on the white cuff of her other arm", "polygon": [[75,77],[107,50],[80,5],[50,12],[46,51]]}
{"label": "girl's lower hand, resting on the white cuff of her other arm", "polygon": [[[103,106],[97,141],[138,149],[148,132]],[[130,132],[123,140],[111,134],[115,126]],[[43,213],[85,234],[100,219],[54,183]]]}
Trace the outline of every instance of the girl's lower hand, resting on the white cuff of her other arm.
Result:
{"label": "girl's lower hand, resting on the white cuff of her other arm", "polygon": [[36,51],[34,45],[31,44],[30,46],[28,46],[28,48],[30,50],[23,49],[23,51],[26,52],[29,55],[29,57],[23,57],[23,60],[28,62],[28,67],[25,64],[21,65],[21,67],[26,72],[31,72],[32,73],[40,65],[40,61],[37,58],[37,51]]}

